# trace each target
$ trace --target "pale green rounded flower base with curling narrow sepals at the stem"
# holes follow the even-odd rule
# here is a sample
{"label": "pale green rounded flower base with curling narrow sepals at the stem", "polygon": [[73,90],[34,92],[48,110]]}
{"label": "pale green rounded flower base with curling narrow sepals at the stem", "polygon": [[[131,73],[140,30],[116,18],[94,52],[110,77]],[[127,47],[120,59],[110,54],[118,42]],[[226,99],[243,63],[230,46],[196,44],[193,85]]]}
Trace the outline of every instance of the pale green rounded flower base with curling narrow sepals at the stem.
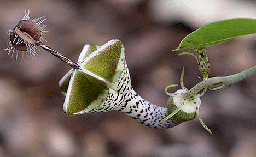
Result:
{"label": "pale green rounded flower base with curling narrow sepals at the stem", "polygon": [[[196,85],[192,89],[188,90],[183,83],[184,73],[185,70],[183,67],[180,79],[182,89],[177,90],[175,93],[168,93],[168,88],[176,87],[178,84],[171,84],[165,88],[165,93],[170,96],[167,101],[168,115],[166,115],[166,117],[162,119],[160,123],[163,123],[170,118],[176,120],[177,122],[186,122],[197,117],[203,128],[205,128],[212,135],[212,131],[205,125],[205,123],[203,123],[199,113],[199,108],[201,106],[200,96],[205,93],[208,85],[205,84],[205,86],[197,87],[202,85],[200,83],[200,85]],[[203,88],[205,88],[203,92],[201,94],[197,94]]]}

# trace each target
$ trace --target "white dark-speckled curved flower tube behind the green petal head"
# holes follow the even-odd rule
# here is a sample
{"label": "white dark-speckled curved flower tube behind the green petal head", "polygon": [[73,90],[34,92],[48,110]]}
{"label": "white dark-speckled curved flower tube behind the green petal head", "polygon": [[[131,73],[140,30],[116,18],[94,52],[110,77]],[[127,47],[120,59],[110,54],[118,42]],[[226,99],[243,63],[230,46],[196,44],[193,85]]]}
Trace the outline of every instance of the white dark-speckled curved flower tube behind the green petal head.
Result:
{"label": "white dark-speckled curved flower tube behind the green petal head", "polygon": [[167,108],[151,104],[139,96],[131,86],[131,79],[128,67],[121,72],[117,82],[111,84],[107,99],[90,112],[107,112],[118,110],[126,113],[138,123],[156,129],[172,128],[182,122],[170,118],[160,123],[168,113]]}

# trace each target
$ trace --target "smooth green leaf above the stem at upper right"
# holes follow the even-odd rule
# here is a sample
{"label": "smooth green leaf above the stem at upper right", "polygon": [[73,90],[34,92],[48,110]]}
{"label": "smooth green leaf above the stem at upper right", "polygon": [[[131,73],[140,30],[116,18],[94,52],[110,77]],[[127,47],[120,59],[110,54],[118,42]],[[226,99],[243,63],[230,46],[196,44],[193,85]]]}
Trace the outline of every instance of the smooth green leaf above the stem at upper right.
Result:
{"label": "smooth green leaf above the stem at upper right", "polygon": [[211,22],[187,35],[179,43],[179,47],[173,51],[194,49],[191,40],[203,47],[208,47],[254,33],[256,33],[256,19],[238,18]]}

